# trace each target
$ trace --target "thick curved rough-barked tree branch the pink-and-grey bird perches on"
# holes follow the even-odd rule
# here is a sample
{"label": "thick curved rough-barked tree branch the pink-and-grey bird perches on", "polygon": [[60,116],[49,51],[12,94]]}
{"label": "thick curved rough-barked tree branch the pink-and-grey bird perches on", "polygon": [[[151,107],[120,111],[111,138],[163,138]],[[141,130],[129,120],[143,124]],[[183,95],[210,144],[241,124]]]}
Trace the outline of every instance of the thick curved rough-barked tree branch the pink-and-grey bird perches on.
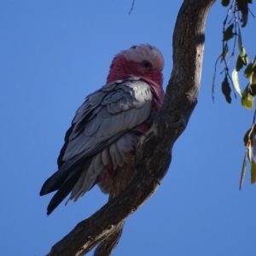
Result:
{"label": "thick curved rough-barked tree branch the pink-and-grey bird perches on", "polygon": [[[185,130],[201,82],[205,24],[215,0],[184,0],[173,33],[173,69],[154,125],[136,150],[136,175],[113,200],[58,241],[48,256],[84,255],[119,229],[160,185],[172,160],[172,147]],[[107,255],[107,254],[106,254]]]}

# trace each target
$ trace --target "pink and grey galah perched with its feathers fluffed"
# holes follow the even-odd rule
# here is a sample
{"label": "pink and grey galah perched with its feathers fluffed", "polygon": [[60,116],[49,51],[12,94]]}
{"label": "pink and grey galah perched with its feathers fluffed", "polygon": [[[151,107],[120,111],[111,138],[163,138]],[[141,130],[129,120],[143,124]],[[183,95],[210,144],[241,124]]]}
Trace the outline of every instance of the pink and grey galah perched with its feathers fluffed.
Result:
{"label": "pink and grey galah perched with its feathers fluffed", "polygon": [[114,174],[129,162],[163,102],[163,67],[160,50],[149,44],[114,56],[107,84],[77,110],[57,160],[58,171],[40,191],[46,195],[57,190],[47,214],[70,192],[68,201],[77,201],[95,184],[103,193],[111,191]]}

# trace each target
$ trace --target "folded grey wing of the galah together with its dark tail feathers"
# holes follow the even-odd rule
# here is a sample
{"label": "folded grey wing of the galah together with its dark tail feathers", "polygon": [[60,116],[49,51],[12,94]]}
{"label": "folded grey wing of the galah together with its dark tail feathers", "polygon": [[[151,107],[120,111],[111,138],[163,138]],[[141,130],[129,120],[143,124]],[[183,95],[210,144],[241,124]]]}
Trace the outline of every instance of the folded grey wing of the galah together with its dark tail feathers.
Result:
{"label": "folded grey wing of the galah together with its dark tail feathers", "polygon": [[148,119],[152,102],[150,85],[136,78],[106,84],[88,96],[67,131],[59,170],[44,183],[40,195],[59,189],[54,208],[71,190],[71,199],[77,200],[96,183],[109,158],[121,161],[108,146]]}

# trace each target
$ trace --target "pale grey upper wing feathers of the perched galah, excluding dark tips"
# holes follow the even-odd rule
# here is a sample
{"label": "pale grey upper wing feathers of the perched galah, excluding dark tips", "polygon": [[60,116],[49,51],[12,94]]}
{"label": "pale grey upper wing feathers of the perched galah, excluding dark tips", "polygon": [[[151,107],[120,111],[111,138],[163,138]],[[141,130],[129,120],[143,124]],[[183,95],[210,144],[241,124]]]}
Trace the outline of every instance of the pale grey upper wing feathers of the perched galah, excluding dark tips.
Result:
{"label": "pale grey upper wing feathers of the perched galah, excluding dark tips", "polygon": [[[108,90],[109,88],[111,90]],[[102,96],[102,92],[105,93],[105,96]],[[102,101],[100,103],[96,102],[97,94],[100,95]],[[96,102],[96,111],[90,104],[90,97],[93,98],[92,102]],[[119,99],[116,105],[113,105],[112,99],[114,102]],[[95,94],[87,98],[87,103],[81,107],[84,113],[81,108],[77,111],[77,115],[73,119],[73,131],[68,138],[62,160],[70,160],[82,152],[84,155],[90,154],[90,149],[94,145],[106,143],[119,132],[122,133],[122,131],[131,130],[140,125],[148,119],[152,101],[153,94],[150,85],[141,79],[126,79],[120,83],[106,84],[102,90],[96,91]],[[85,105],[87,108],[84,108]],[[88,108],[91,108],[90,112]],[[93,113],[93,117],[90,115],[91,113]],[[90,119],[87,119],[89,115]],[[77,134],[78,126],[81,124],[83,127],[79,127],[80,132]]]}

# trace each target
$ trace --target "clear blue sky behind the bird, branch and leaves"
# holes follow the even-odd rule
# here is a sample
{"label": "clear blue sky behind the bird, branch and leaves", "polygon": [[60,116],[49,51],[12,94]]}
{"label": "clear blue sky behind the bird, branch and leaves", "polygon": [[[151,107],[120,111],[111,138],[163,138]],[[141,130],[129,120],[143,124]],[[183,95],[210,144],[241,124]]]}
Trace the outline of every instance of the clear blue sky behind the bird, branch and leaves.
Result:
{"label": "clear blue sky behind the bird, branch and leaves", "polygon": [[[108,197],[92,189],[46,217],[51,195],[39,197],[73,114],[105,84],[113,55],[153,44],[172,70],[172,31],[182,1],[0,1],[1,252],[41,256]],[[255,6],[252,6],[254,14]],[[255,185],[238,183],[242,137],[253,112],[224,101],[213,66],[221,52],[220,1],[207,19],[201,92],[187,130],[177,140],[160,188],[135,212],[114,255],[255,255]],[[243,32],[255,55],[255,20]],[[218,73],[221,69],[218,69]],[[241,87],[246,82],[241,80]],[[234,98],[234,97],[233,97]],[[92,255],[89,253],[88,255]]]}

